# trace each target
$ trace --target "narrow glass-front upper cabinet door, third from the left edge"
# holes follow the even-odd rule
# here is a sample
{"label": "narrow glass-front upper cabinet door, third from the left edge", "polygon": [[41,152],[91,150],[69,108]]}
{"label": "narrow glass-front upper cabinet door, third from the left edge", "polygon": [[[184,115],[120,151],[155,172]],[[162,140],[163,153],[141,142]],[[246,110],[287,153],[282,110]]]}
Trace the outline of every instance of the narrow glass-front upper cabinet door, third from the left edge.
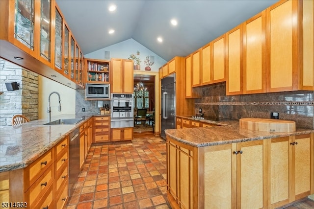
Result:
{"label": "narrow glass-front upper cabinet door, third from the left edge", "polygon": [[54,26],[54,69],[62,71],[62,25],[63,19],[58,11],[55,9],[55,26]]}

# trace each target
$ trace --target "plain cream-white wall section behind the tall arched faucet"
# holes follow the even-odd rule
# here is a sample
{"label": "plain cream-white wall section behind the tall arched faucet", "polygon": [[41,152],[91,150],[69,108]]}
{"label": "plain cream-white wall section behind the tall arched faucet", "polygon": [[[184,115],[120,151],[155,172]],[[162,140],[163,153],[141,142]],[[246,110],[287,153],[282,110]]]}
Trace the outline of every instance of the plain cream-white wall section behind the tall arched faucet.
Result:
{"label": "plain cream-white wall section behind the tall arched faucet", "polygon": [[38,76],[38,119],[48,118],[48,97],[52,92],[60,94],[61,112],[58,112],[57,106],[59,99],[57,94],[52,94],[50,97],[51,116],[59,116],[64,114],[75,114],[75,90],[60,83],[57,83],[49,78]]}

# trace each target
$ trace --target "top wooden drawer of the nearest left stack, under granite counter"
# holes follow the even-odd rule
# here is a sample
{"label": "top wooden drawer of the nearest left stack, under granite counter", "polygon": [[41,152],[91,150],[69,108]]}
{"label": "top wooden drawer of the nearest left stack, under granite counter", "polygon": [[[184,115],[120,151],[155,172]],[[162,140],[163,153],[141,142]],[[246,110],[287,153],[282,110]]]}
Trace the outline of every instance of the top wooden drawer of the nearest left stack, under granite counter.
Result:
{"label": "top wooden drawer of the nearest left stack, under granite counter", "polygon": [[[29,167],[29,186],[53,163],[53,148],[46,154],[31,163]],[[27,172],[27,171],[26,171]],[[37,178],[36,178],[37,177]]]}

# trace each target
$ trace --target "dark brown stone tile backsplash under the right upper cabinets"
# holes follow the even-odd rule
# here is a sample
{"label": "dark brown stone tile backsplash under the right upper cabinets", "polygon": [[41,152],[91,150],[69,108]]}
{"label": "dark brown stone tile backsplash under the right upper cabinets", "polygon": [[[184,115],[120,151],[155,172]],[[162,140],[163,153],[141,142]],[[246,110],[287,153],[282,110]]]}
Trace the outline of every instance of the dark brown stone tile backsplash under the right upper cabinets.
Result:
{"label": "dark brown stone tile backsplash under the right upper cabinets", "polygon": [[202,108],[205,116],[240,119],[270,118],[278,112],[279,119],[293,120],[299,128],[314,129],[314,92],[293,91],[226,95],[226,84],[202,88],[202,98],[195,99],[195,113]]}

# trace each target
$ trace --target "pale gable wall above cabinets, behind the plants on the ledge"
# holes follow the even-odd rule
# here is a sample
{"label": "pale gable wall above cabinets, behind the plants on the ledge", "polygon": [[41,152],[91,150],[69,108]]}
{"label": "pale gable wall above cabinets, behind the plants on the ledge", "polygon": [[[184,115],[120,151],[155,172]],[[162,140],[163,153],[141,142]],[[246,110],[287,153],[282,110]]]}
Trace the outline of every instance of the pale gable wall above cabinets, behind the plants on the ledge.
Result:
{"label": "pale gable wall above cabinets, behind the plants on the ledge", "polygon": [[167,61],[159,57],[157,54],[146,48],[145,46],[139,44],[133,39],[128,39],[126,41],[120,42],[118,44],[114,44],[97,51],[91,52],[89,54],[85,54],[85,58],[91,59],[105,59],[105,51],[110,51],[110,58],[120,58],[120,59],[128,59],[130,54],[136,54],[137,51],[140,52],[138,56],[141,60],[141,70],[135,71],[145,71],[144,60],[147,56],[153,55],[155,57],[155,63],[151,66],[151,71],[157,72],[158,69],[163,66]]}

